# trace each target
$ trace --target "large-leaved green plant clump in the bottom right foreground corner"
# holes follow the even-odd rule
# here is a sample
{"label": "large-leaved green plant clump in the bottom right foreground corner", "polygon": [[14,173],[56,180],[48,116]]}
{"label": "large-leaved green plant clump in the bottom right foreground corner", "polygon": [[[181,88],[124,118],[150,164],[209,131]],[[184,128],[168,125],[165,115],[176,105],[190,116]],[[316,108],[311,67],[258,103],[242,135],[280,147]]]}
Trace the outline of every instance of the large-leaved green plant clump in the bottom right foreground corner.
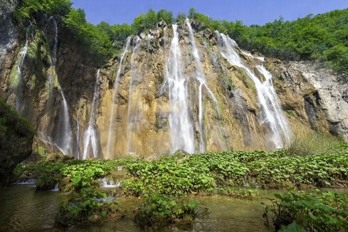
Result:
{"label": "large-leaved green plant clump in the bottom right foreground corner", "polygon": [[[271,206],[264,209],[267,222],[276,230],[290,231],[348,231],[348,198],[342,194],[284,193],[274,194]],[[269,219],[270,218],[270,219]],[[295,230],[296,228],[296,230]]]}

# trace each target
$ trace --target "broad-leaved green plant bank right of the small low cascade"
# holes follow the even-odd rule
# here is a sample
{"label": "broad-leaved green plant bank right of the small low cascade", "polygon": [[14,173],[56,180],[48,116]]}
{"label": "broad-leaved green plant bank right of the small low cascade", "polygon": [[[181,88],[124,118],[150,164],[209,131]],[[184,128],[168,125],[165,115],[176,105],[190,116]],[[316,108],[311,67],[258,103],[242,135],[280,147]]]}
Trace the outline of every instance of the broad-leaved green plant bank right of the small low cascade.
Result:
{"label": "broad-leaved green plant bank right of the small low cascade", "polygon": [[131,178],[122,186],[134,195],[211,192],[217,186],[332,187],[346,183],[348,151],[308,156],[290,156],[287,150],[208,152],[138,160],[126,168]]}

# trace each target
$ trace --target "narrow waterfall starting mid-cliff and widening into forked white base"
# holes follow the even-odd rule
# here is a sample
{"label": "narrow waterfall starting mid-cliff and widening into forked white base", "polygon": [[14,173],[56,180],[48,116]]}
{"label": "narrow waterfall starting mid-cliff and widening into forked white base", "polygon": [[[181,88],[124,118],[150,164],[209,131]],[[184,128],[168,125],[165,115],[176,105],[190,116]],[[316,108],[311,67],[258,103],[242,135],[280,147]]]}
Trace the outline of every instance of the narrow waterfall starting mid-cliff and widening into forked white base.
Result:
{"label": "narrow waterfall starting mid-cliff and widening into forked white base", "polygon": [[95,80],[94,95],[93,95],[93,101],[91,106],[91,113],[89,116],[88,127],[83,135],[82,159],[86,159],[87,155],[90,154],[90,152],[92,152],[94,158],[98,157],[98,141],[97,141],[97,130],[95,128],[96,127],[95,123],[97,119],[97,110],[99,105],[99,77],[100,77],[100,69],[98,69],[97,77]]}

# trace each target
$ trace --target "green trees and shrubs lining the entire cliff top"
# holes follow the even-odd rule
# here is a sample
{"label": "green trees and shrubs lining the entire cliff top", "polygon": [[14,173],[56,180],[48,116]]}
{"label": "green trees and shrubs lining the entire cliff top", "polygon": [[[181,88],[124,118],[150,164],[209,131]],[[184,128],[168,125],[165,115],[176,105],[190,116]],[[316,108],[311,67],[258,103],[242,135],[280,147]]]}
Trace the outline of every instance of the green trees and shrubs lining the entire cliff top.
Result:
{"label": "green trees and shrubs lining the entire cliff top", "polygon": [[282,17],[259,25],[243,25],[242,21],[214,20],[190,8],[173,17],[171,11],[150,9],[134,18],[131,25],[92,25],[83,9],[71,7],[70,0],[21,0],[14,16],[18,22],[38,19],[39,14],[53,15],[68,28],[93,59],[105,62],[123,47],[126,38],[155,27],[158,21],[184,23],[186,17],[196,20],[201,29],[209,28],[229,35],[244,49],[281,59],[307,59],[327,62],[334,70],[348,74],[348,9],[333,10],[294,21]]}

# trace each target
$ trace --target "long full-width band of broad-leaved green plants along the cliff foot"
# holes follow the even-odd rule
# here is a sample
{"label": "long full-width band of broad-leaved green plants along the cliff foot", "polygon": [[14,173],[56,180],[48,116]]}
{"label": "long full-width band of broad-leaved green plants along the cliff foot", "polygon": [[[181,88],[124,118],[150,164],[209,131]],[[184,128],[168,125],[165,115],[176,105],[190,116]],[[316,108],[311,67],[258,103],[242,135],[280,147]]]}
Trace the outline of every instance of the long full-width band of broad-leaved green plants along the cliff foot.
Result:
{"label": "long full-width band of broad-leaved green plants along the cliff foot", "polygon": [[[128,195],[212,192],[216,187],[249,186],[263,188],[347,187],[348,149],[340,143],[335,154],[289,155],[276,152],[225,151],[195,155],[163,156],[153,161],[125,156],[115,160],[70,160],[54,162],[42,159],[19,164],[15,174],[27,171],[37,178],[40,189],[60,182],[60,189],[79,192],[97,187],[96,179],[124,165],[127,176],[121,182]],[[228,193],[229,194],[229,193]]]}

